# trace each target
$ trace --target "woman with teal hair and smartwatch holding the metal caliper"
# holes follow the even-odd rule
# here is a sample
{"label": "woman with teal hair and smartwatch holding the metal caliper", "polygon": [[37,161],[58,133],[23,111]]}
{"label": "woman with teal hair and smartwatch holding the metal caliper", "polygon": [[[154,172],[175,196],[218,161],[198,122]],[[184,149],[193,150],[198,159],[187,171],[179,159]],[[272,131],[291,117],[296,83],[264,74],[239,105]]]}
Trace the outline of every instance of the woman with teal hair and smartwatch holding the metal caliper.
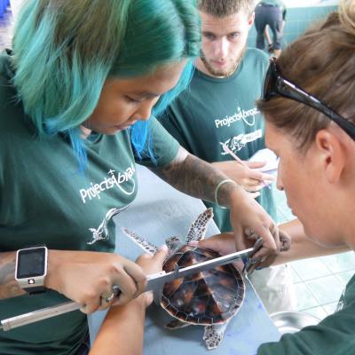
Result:
{"label": "woman with teal hair and smartwatch holding the metal caliper", "polygon": [[280,248],[264,210],[152,116],[185,89],[200,37],[193,0],[26,1],[0,56],[0,314],[67,298],[83,308],[0,332],[0,353],[85,353],[84,313],[142,293],[142,267],[113,254],[112,218],[137,194],[136,161],[230,207],[236,235],[259,233],[264,253]]}

